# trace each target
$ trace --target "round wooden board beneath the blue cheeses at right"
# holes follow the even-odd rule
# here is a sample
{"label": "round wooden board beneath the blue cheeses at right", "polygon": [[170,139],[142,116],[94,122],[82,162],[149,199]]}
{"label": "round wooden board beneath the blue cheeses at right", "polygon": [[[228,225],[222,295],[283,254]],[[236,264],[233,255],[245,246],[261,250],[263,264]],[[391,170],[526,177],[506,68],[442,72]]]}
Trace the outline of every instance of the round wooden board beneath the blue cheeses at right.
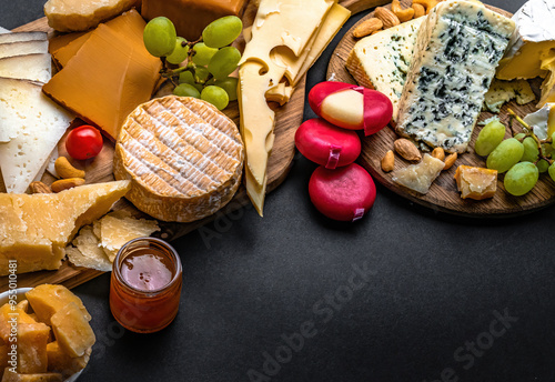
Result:
{"label": "round wooden board beneath the blue cheeses at right", "polygon": [[[401,2],[405,8],[408,7],[412,1],[403,0]],[[386,7],[389,8],[389,7]],[[512,13],[506,12],[502,9],[487,6],[487,8],[502,13],[506,17],[512,17]],[[345,68],[345,62],[349,53],[353,49],[354,44],[359,39],[353,38],[353,30],[364,20],[373,17],[373,12],[363,17],[356,24],[354,24],[351,30],[349,30],[343,39],[337,44],[330,64],[327,67],[326,78],[333,78],[335,81],[356,83],[353,77],[349,73]],[[536,93],[539,93],[541,81],[531,81],[532,89]],[[505,104],[501,112],[498,113],[500,119],[503,123],[508,127],[508,113],[507,108],[513,109],[518,115],[526,115],[537,109],[534,102],[525,105],[519,105],[515,101],[511,101]],[[483,121],[495,115],[491,112],[482,112],[478,121]],[[471,144],[468,145],[470,152],[464,153],[458,157],[455,165],[450,170],[444,171],[432,184],[430,192],[426,194],[421,194],[418,192],[408,190],[397,183],[393,182],[392,173],[384,173],[381,169],[381,160],[389,150],[393,150],[393,142],[398,138],[394,132],[393,128],[387,127],[376,134],[363,138],[362,154],[359,159],[361,165],[363,165],[371,174],[383,184],[389,190],[400,194],[407,200],[415,202],[417,204],[424,205],[426,208],[438,210],[442,212],[447,212],[456,215],[474,217],[474,218],[503,218],[517,215],[526,212],[532,212],[549,204],[555,203],[555,183],[549,179],[547,174],[541,174],[539,181],[537,182],[534,190],[528,192],[524,197],[513,197],[508,194],[503,187],[503,174],[500,174],[497,181],[497,192],[494,198],[475,201],[475,200],[463,200],[457,191],[456,183],[454,180],[456,168],[461,164],[485,167],[485,158],[478,157],[474,153],[474,141],[482,127],[477,125],[474,129],[473,138]],[[515,123],[513,124],[515,131],[519,131],[521,127]],[[506,137],[511,135],[511,131],[507,128]],[[405,168],[410,163],[403,160],[401,157],[395,155],[395,169]]]}

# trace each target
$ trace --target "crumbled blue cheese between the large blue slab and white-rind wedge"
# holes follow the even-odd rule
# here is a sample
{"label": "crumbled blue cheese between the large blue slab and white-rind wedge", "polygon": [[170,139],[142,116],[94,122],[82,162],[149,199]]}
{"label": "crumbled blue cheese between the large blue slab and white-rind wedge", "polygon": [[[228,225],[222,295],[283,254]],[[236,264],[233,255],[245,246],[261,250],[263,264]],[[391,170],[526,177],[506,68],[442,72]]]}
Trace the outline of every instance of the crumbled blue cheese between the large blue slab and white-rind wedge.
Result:
{"label": "crumbled blue cheese between the large blue slab and white-rind wedge", "polygon": [[500,112],[505,102],[516,99],[516,103],[526,104],[536,99],[528,81],[502,81],[493,80],[490,90],[485,94],[485,107],[493,112]]}

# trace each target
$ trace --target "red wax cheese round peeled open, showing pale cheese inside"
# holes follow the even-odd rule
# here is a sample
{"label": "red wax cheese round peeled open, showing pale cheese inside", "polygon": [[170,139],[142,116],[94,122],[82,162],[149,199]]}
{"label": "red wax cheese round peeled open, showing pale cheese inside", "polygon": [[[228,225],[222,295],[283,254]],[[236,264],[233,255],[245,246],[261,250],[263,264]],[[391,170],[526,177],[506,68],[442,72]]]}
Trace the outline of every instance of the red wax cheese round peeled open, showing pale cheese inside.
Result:
{"label": "red wax cheese round peeled open, showing pale cheese inside", "polygon": [[366,135],[385,128],[393,115],[385,94],[345,82],[316,84],[309,93],[309,104],[326,121],[344,129],[364,129]]}

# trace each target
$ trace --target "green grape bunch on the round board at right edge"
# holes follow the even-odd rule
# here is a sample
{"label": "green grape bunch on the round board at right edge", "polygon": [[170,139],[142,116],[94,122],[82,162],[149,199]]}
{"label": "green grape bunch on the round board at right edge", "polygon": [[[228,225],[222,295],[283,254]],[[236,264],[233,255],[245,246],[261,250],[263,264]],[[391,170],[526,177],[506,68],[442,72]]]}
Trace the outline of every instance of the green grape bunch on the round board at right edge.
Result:
{"label": "green grape bunch on the round board at right edge", "polygon": [[555,132],[539,140],[533,129],[512,110],[509,113],[524,127],[523,132],[505,138],[505,125],[498,120],[487,123],[476,139],[474,150],[487,157],[488,169],[505,173],[505,190],[515,197],[529,192],[539,174],[548,172],[555,181]]}

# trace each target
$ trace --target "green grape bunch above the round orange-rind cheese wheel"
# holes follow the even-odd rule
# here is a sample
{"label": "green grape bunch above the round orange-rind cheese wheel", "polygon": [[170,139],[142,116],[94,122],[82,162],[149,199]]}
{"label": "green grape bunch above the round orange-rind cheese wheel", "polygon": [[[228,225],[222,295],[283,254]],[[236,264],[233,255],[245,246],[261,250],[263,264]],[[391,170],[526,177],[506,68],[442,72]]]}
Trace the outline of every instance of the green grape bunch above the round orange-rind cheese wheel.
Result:
{"label": "green grape bunch above the round orange-rind cheese wheel", "polygon": [[170,19],[158,17],[144,28],[143,41],[150,54],[162,59],[162,76],[175,86],[175,96],[200,98],[223,110],[238,99],[238,79],[230,74],[241,53],[230,44],[242,29],[240,18],[226,16],[212,21],[191,42],[176,36]]}

